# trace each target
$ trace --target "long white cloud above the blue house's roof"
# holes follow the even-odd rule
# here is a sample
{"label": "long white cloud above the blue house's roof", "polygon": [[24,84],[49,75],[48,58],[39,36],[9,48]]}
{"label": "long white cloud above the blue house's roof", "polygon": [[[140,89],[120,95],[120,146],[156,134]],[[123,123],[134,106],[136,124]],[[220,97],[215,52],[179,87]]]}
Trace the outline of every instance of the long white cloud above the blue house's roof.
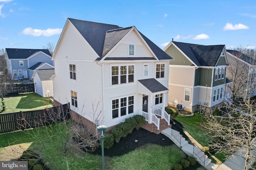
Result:
{"label": "long white cloud above the blue house's roof", "polygon": [[48,28],[48,29],[33,29],[31,27],[28,27],[28,28],[25,28],[23,31],[22,31],[22,34],[24,35],[33,35],[35,37],[38,37],[38,36],[46,36],[46,37],[50,37],[52,35],[56,35],[56,34],[60,34],[62,32],[62,29],[60,28],[55,28],[55,29],[52,29],[52,28]]}

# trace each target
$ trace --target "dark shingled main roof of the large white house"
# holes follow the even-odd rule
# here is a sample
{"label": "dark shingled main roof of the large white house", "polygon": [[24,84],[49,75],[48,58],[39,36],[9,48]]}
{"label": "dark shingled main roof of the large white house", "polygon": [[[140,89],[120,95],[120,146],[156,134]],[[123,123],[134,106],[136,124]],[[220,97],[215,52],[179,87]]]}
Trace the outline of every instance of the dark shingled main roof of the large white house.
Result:
{"label": "dark shingled main roof of the large white house", "polygon": [[[68,20],[71,21],[84,39],[99,55],[99,58],[96,59],[96,61],[100,61],[130,31],[130,29],[132,29],[132,27],[123,28],[118,25],[76,20],[72,18],[68,18]],[[172,59],[172,57],[166,54],[146,36],[142,33],[140,33],[140,35],[159,60]],[[112,59],[119,60],[120,58],[117,57]]]}

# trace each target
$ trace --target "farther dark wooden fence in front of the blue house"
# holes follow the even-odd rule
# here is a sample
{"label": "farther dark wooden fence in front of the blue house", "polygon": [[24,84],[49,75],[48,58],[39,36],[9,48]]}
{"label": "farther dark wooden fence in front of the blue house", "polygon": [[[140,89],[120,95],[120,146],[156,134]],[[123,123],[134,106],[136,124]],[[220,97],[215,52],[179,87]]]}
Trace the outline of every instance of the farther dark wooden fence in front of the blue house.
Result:
{"label": "farther dark wooden fence in front of the blue house", "polygon": [[34,83],[30,84],[12,84],[9,86],[9,88],[6,90],[7,96],[11,95],[18,95],[19,93],[30,93],[34,92]]}

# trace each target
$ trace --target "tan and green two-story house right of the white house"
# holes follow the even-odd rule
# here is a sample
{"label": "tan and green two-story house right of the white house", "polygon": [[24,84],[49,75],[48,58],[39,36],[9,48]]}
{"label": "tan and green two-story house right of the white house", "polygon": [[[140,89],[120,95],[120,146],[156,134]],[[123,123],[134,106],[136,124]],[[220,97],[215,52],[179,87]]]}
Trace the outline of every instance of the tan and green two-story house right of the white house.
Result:
{"label": "tan and green two-story house right of the white house", "polygon": [[164,51],[172,56],[168,104],[187,111],[214,111],[224,99],[225,45],[197,45],[171,41]]}

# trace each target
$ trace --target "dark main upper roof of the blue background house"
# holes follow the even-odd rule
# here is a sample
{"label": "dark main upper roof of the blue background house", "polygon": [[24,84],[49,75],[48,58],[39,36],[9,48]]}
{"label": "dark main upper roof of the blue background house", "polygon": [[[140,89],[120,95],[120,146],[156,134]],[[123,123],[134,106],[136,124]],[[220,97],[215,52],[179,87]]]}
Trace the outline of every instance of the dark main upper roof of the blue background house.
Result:
{"label": "dark main upper roof of the blue background house", "polygon": [[42,51],[52,57],[48,49],[6,49],[9,59],[26,59],[38,51]]}

